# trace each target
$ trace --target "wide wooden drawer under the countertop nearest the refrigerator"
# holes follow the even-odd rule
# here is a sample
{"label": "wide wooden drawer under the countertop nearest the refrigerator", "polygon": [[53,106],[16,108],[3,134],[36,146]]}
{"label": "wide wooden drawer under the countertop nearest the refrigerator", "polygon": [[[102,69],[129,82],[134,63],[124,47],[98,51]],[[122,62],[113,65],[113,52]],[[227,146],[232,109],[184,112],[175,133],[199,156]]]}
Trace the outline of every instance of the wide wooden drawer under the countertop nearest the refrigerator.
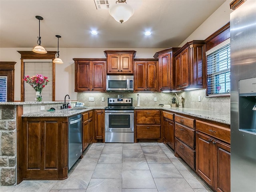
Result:
{"label": "wide wooden drawer under the countertop nearest the refrigerator", "polygon": [[230,143],[230,129],[196,120],[196,130]]}

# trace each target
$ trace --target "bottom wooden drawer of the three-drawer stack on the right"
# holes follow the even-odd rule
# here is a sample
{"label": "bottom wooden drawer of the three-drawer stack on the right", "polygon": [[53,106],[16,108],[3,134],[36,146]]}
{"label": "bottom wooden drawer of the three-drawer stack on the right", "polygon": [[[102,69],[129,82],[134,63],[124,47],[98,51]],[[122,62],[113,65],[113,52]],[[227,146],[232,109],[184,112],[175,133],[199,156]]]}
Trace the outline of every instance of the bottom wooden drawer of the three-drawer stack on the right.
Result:
{"label": "bottom wooden drawer of the three-drawer stack on the right", "polygon": [[186,144],[175,138],[175,152],[195,170],[196,152]]}

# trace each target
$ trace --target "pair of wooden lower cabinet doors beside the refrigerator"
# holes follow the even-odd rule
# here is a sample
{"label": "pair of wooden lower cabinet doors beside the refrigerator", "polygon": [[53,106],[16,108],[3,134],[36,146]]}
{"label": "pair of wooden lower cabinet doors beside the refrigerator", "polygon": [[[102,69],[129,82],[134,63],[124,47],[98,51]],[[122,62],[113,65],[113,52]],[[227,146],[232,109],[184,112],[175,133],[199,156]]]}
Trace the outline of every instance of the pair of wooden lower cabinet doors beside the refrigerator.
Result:
{"label": "pair of wooden lower cabinet doors beside the refrigerator", "polygon": [[196,172],[217,192],[230,192],[230,145],[196,132]]}

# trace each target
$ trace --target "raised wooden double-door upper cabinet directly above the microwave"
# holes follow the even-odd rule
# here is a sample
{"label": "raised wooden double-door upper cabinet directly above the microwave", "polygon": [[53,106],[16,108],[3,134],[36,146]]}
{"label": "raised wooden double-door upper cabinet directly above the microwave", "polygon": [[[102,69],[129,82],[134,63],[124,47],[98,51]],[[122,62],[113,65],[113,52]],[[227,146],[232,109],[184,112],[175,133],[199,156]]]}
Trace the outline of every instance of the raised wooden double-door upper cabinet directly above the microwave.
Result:
{"label": "raised wooden double-door upper cabinet directly above the microwave", "polygon": [[104,51],[107,57],[108,74],[133,74],[133,60],[136,51]]}

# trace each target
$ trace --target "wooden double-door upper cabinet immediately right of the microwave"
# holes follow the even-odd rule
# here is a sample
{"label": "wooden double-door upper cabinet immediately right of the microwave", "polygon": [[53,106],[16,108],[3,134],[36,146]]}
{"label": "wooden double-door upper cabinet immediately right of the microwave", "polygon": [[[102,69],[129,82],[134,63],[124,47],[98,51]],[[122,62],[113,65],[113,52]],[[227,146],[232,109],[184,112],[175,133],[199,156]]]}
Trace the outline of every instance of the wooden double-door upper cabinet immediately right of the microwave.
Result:
{"label": "wooden double-door upper cabinet immediately right of the microwave", "polygon": [[158,60],[138,59],[134,61],[134,91],[158,91]]}

